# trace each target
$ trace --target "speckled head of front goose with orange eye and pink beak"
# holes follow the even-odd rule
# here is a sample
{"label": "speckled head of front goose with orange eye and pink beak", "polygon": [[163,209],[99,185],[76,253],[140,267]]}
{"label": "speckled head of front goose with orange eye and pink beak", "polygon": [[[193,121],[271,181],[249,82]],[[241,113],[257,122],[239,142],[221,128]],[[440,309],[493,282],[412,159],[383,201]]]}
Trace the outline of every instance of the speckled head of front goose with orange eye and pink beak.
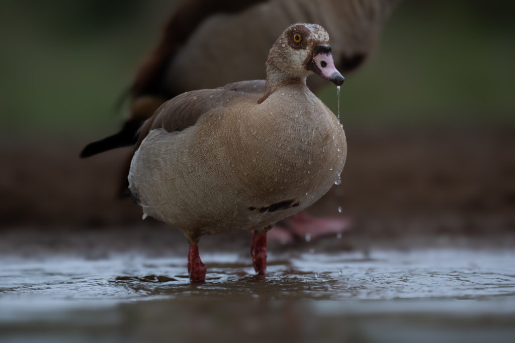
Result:
{"label": "speckled head of front goose with orange eye and pink beak", "polygon": [[313,73],[337,86],[345,78],[334,66],[329,34],[317,24],[289,26],[273,44],[268,54],[267,79],[280,72],[286,79],[301,79]]}

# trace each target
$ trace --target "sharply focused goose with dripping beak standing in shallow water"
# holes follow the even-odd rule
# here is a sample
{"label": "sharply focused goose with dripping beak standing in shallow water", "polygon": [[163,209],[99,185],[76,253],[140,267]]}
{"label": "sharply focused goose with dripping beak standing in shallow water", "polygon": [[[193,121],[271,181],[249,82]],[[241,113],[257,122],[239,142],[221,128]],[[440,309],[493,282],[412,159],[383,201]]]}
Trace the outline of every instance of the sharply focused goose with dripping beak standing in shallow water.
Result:
{"label": "sharply focused goose with dripping beak standing in shallow water", "polygon": [[306,86],[313,72],[344,82],[327,31],[291,25],[269,51],[266,80],[183,93],[143,124],[129,189],[144,217],[184,232],[192,282],[205,279],[198,254],[205,234],[253,230],[252,261],[264,274],[266,232],[338,180],[345,134]]}

